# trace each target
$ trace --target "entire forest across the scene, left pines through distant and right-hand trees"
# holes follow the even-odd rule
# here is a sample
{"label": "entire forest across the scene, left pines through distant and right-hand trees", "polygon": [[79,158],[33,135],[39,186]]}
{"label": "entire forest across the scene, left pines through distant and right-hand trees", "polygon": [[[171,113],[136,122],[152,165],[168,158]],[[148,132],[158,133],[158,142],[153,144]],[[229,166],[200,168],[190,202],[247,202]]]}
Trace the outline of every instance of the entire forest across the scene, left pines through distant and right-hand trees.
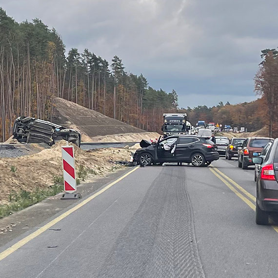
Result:
{"label": "entire forest across the scene, left pines through distant and right-hand trees", "polygon": [[261,97],[237,105],[178,108],[178,95],[149,86],[142,75],[127,73],[122,60],[112,61],[88,49],[65,45],[41,20],[16,22],[0,8],[0,141],[12,134],[18,116],[52,120],[53,98],[60,97],[147,131],[160,132],[162,114],[186,112],[188,120],[231,124],[255,131],[269,126],[278,136],[278,51],[262,51],[255,77]]}

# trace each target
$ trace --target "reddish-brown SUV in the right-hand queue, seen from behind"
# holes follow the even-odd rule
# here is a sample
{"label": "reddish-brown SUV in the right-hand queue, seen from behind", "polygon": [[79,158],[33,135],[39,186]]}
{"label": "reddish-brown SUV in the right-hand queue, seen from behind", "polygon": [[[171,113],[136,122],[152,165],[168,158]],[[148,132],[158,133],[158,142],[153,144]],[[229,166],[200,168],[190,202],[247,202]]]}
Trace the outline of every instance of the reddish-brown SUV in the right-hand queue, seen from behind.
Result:
{"label": "reddish-brown SUV in the right-hand queue, seen from behind", "polygon": [[250,137],[245,139],[242,148],[238,150],[238,167],[247,169],[248,166],[255,165],[252,162],[253,153],[260,155],[263,147],[272,140],[273,138],[266,137]]}

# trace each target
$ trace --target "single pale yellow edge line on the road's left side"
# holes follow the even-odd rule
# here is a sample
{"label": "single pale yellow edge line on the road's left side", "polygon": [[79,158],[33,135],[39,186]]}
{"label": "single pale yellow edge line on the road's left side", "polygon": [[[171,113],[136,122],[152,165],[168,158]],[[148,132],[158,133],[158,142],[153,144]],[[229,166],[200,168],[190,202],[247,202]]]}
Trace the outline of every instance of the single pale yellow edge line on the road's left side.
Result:
{"label": "single pale yellow edge line on the road's left side", "polygon": [[47,224],[45,224],[44,226],[40,227],[40,229],[38,229],[37,231],[35,231],[34,233],[30,234],[29,236],[22,238],[20,241],[18,241],[17,243],[15,243],[14,245],[12,245],[11,247],[9,247],[8,249],[6,249],[5,251],[0,253],[0,261],[3,258],[8,257],[9,255],[11,255],[12,253],[14,253],[16,250],[18,250],[20,247],[22,247],[23,245],[25,245],[27,242],[29,242],[30,240],[38,237],[40,234],[42,234],[43,232],[45,232],[46,230],[48,230],[49,228],[51,228],[53,225],[55,225],[56,223],[58,223],[59,221],[61,221],[62,219],[66,218],[67,216],[69,216],[71,213],[75,212],[76,210],[78,210],[80,207],[84,206],[86,203],[88,203],[89,201],[91,201],[92,199],[96,198],[97,196],[99,196],[101,193],[103,193],[104,191],[106,191],[108,188],[110,188],[111,186],[113,186],[114,184],[118,183],[120,180],[124,179],[125,177],[127,177],[128,175],[130,175],[131,173],[133,173],[134,171],[136,171],[139,167],[136,167],[135,169],[129,171],[128,173],[126,173],[125,175],[123,175],[122,177],[120,177],[119,179],[113,181],[112,183],[108,184],[107,186],[105,186],[104,188],[102,188],[101,190],[99,190],[99,192],[95,193],[94,195],[88,197],[87,199],[84,199],[82,202],[80,202],[79,204],[77,204],[76,206],[74,206],[73,208],[69,209],[68,211],[64,212],[63,214],[61,214],[60,216],[58,216],[57,218],[51,220],[50,222],[48,222]]}

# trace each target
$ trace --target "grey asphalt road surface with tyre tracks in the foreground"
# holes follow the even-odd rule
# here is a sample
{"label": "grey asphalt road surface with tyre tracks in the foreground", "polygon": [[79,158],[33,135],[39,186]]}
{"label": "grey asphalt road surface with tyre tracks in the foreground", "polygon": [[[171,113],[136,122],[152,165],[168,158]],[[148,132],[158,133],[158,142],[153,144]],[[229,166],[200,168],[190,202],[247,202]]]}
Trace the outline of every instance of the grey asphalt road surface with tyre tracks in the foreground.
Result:
{"label": "grey asphalt road surface with tyre tracks in the foreground", "polygon": [[236,160],[138,168],[109,186],[1,247],[0,277],[278,276],[278,227],[256,225],[253,170]]}

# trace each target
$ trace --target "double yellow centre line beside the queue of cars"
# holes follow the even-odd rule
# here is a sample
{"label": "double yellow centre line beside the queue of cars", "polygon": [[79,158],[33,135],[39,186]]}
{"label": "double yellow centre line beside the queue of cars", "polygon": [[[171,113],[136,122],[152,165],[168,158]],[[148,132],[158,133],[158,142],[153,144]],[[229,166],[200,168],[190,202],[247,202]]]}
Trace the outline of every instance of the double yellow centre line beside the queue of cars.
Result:
{"label": "double yellow centre line beside the queue of cars", "polygon": [[[247,205],[249,205],[254,211],[256,211],[256,206],[249,201],[249,199],[245,198],[240,192],[238,192],[238,190],[236,190],[228,181],[226,181],[225,179],[223,179],[221,176],[218,175],[221,174],[223,177],[225,177],[226,179],[228,179],[231,183],[233,183],[240,191],[242,191],[244,194],[246,194],[246,196],[251,196],[249,198],[251,198],[252,200],[254,200],[254,202],[256,202],[256,197],[253,196],[252,194],[250,194],[249,192],[247,192],[245,189],[243,189],[240,185],[238,185],[238,183],[236,183],[234,180],[230,179],[229,177],[227,177],[226,175],[224,175],[221,171],[219,171],[216,167],[210,167],[209,168],[211,170],[211,172],[213,172],[214,175],[216,175],[218,177],[218,179],[222,180],[225,185],[227,185],[240,199],[242,199]],[[217,173],[217,172],[218,173]],[[240,189],[241,188],[241,189]],[[272,218],[270,218],[270,224],[274,224],[274,221],[272,220]],[[271,225],[271,227],[278,233],[278,226],[277,225]]]}

